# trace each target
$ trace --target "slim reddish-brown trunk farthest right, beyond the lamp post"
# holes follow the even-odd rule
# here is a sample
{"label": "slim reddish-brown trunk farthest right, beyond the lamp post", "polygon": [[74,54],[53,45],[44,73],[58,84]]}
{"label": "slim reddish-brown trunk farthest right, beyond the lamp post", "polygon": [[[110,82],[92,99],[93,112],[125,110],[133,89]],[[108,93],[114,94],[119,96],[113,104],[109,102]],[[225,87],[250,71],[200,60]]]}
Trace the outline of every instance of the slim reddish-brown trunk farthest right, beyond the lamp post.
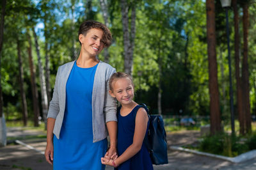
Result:
{"label": "slim reddish-brown trunk farthest right, beyond the lamp post", "polygon": [[252,132],[252,120],[250,111],[250,86],[249,86],[249,66],[248,66],[248,25],[249,25],[249,12],[248,3],[243,5],[243,68],[242,80],[244,89],[244,111],[246,115],[246,133]]}

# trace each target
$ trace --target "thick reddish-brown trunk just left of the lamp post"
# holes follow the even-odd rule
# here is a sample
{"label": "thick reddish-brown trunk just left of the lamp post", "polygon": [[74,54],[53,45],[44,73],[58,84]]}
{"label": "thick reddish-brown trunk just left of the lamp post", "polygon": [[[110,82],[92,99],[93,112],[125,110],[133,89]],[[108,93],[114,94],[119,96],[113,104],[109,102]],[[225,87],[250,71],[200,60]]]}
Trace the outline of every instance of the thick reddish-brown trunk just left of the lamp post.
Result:
{"label": "thick reddish-brown trunk just left of the lamp post", "polygon": [[207,52],[209,62],[209,93],[211,134],[221,131],[220,102],[218,90],[217,60],[216,60],[216,33],[215,33],[215,4],[214,0],[206,1],[207,12]]}

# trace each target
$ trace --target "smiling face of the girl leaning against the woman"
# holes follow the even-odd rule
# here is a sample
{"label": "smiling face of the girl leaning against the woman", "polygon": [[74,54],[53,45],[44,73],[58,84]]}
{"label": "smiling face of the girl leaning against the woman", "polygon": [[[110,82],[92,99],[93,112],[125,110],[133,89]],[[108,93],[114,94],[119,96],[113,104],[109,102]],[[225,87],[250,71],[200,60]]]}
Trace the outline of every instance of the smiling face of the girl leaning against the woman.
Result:
{"label": "smiling face of the girl leaning against the woman", "polygon": [[131,104],[134,97],[134,87],[128,77],[117,79],[112,82],[113,91],[109,90],[112,97],[115,97],[122,105]]}

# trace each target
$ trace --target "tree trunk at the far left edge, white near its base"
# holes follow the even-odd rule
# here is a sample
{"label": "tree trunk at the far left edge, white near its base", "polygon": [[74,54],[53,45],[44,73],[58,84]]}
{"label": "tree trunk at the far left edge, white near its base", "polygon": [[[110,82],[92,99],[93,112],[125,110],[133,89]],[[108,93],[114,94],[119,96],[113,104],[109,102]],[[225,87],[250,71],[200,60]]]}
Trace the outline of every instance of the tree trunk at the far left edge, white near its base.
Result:
{"label": "tree trunk at the far left edge, white near its base", "polygon": [[[2,11],[1,11],[1,23],[0,23],[0,70],[1,70],[1,58],[3,48],[3,36],[4,36],[4,16],[5,16],[6,0],[2,0]],[[1,80],[1,72],[0,72]],[[6,124],[3,114],[3,95],[2,86],[0,83],[0,146],[6,146]]]}

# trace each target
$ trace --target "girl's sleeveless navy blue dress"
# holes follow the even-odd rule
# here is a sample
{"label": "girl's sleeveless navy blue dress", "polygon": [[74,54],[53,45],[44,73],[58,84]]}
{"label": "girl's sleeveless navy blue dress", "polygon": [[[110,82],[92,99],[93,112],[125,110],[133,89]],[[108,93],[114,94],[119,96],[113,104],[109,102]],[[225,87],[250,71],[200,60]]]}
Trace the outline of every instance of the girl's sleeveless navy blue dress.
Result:
{"label": "girl's sleeveless navy blue dress", "polygon": [[[136,105],[138,107],[138,105]],[[134,109],[136,108],[134,107]],[[136,112],[132,111],[127,116],[121,116],[120,109],[118,109],[118,132],[117,132],[117,152],[122,155],[124,151],[132,144],[134,129],[135,129],[135,115]],[[148,128],[148,127],[147,127]],[[147,135],[147,133],[146,133]],[[143,143],[141,150],[136,153],[129,160],[115,168],[116,170],[150,170],[153,169],[152,162],[148,150]]]}

